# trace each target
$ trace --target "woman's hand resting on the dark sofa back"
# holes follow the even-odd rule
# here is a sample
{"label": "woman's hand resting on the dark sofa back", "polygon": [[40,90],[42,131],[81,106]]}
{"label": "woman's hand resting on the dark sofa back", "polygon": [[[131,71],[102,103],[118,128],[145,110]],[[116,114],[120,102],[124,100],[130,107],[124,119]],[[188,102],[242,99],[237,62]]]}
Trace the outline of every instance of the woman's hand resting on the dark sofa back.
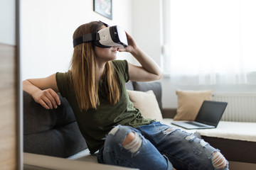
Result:
{"label": "woman's hand resting on the dark sofa back", "polygon": [[60,98],[53,89],[36,91],[33,94],[33,98],[36,103],[41,104],[46,109],[57,108],[60,105]]}

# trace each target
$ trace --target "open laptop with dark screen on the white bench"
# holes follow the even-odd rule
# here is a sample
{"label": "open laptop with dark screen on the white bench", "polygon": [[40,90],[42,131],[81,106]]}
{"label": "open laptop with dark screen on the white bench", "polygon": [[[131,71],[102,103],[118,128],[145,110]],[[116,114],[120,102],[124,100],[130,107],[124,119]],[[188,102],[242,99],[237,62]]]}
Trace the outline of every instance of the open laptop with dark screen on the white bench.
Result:
{"label": "open laptop with dark screen on the white bench", "polygon": [[227,102],[203,101],[194,121],[174,121],[171,124],[186,129],[216,128],[227,105]]}

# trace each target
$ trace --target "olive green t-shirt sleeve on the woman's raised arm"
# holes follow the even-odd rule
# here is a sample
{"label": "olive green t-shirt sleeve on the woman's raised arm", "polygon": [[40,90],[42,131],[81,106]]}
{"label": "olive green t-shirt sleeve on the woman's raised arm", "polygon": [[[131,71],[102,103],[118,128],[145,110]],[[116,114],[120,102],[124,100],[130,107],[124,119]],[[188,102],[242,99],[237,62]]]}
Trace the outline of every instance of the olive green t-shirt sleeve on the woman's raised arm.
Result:
{"label": "olive green t-shirt sleeve on the woman's raised arm", "polygon": [[124,77],[124,81],[128,82],[129,81],[129,65],[127,60],[114,60],[112,61],[114,64],[115,69],[117,69],[117,72],[119,74],[122,74]]}

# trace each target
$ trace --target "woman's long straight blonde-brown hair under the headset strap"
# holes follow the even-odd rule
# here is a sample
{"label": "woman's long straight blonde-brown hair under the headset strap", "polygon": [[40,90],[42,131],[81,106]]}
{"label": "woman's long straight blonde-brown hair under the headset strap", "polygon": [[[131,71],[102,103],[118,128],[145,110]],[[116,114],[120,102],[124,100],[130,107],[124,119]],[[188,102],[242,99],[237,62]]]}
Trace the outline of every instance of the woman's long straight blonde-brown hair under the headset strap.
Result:
{"label": "woman's long straight blonde-brown hair under the headset strap", "polygon": [[[83,24],[75,30],[73,39],[87,33],[95,33],[102,26],[103,23],[97,21]],[[87,111],[89,108],[97,108],[100,105],[97,70],[93,43],[85,42],[75,46],[73,58],[70,62],[70,72],[80,111]],[[117,103],[119,101],[119,86],[112,62],[107,62],[105,65],[103,83],[110,104]]]}

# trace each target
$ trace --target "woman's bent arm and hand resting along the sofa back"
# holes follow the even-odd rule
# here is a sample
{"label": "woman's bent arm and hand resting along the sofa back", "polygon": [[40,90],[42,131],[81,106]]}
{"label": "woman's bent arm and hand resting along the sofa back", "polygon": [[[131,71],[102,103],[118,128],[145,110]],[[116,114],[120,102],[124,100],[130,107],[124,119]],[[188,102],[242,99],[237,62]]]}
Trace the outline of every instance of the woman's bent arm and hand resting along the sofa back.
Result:
{"label": "woman's bent arm and hand resting along the sofa back", "polygon": [[23,81],[23,90],[31,94],[36,103],[40,103],[46,109],[57,108],[60,105],[55,74],[42,79],[26,79]]}

